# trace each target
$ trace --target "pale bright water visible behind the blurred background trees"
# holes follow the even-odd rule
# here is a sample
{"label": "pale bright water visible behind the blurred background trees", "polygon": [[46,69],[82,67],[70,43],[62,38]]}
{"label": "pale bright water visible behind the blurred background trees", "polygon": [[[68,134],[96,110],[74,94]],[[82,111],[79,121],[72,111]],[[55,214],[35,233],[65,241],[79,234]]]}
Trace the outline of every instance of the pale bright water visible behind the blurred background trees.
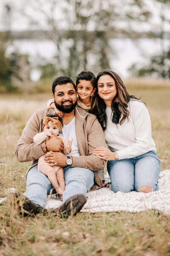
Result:
{"label": "pale bright water visible behind the blurred background trees", "polygon": [[[161,53],[160,39],[141,38],[113,38],[110,40],[114,55],[110,56],[111,69],[116,71],[122,78],[128,78],[128,69],[133,63],[147,64],[151,55]],[[170,40],[164,40],[164,47],[170,47]],[[56,47],[51,40],[14,40],[14,46],[8,47],[8,53],[17,49],[22,54],[28,54],[31,63],[36,64],[39,58],[52,60],[57,54]],[[33,65],[34,66],[34,65]],[[40,71],[31,71],[31,79],[36,81],[40,78]]]}

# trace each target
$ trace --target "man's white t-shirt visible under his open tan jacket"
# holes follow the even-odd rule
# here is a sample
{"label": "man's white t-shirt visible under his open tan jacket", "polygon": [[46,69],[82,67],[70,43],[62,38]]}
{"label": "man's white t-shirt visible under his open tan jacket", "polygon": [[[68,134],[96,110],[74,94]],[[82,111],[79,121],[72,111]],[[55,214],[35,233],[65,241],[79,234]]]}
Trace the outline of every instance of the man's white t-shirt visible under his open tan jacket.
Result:
{"label": "man's white t-shirt visible under his open tan jacket", "polygon": [[71,141],[73,139],[71,146],[72,152],[68,155],[79,156],[79,147],[76,138],[75,117],[71,120],[69,124],[64,124],[64,126],[62,127],[62,132],[60,134],[65,138],[66,141]]}

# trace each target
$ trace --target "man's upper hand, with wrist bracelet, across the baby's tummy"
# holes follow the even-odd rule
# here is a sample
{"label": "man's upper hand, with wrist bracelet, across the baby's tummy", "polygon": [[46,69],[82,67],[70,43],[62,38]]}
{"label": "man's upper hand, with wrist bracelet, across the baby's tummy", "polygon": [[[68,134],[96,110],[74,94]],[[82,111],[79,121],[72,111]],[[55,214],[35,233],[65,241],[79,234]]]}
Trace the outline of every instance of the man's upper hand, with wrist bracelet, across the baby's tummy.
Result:
{"label": "man's upper hand, with wrist bracelet, across the baby's tummy", "polygon": [[[46,141],[48,151],[62,152],[64,150],[64,144],[62,140],[57,137],[51,137],[48,141]],[[45,141],[41,143],[42,150],[46,152],[45,149]]]}

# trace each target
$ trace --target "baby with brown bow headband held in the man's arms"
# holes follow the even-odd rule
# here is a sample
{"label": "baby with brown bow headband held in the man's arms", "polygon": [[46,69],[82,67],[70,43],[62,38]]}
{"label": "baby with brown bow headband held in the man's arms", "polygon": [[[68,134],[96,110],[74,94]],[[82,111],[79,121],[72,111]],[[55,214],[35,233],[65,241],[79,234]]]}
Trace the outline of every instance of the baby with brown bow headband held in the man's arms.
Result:
{"label": "baby with brown bow headband held in the man's arms", "polygon": [[[42,132],[37,133],[34,136],[34,143],[37,145],[41,144],[43,141],[46,141],[50,139],[52,136],[58,137],[61,139],[64,143],[64,151],[63,153],[65,155],[68,155],[71,153],[71,146],[72,141],[65,141],[65,138],[62,136],[59,136],[59,132],[62,129],[62,118],[56,115],[48,115],[44,118],[42,118],[41,121],[42,124]],[[50,154],[50,152],[46,152],[46,154]],[[38,159],[38,170],[45,175],[48,176],[48,179],[50,180],[52,186],[56,190],[56,193],[59,195],[62,195],[62,193],[65,190],[65,180],[64,180],[64,171],[62,167],[54,166],[51,167],[44,161],[44,156],[41,156]],[[62,199],[62,196],[61,196]]]}

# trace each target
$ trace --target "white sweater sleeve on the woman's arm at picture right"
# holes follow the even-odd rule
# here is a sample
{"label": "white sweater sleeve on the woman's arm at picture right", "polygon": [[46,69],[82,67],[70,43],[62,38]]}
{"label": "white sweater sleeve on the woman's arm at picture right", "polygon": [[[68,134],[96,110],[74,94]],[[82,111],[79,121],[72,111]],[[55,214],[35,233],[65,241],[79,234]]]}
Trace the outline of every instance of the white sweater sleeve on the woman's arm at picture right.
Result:
{"label": "white sweater sleeve on the woman's arm at picture right", "polygon": [[136,141],[131,146],[117,151],[119,159],[136,157],[150,151],[151,121],[147,108],[143,103],[137,102],[131,107],[130,116],[136,130]]}

